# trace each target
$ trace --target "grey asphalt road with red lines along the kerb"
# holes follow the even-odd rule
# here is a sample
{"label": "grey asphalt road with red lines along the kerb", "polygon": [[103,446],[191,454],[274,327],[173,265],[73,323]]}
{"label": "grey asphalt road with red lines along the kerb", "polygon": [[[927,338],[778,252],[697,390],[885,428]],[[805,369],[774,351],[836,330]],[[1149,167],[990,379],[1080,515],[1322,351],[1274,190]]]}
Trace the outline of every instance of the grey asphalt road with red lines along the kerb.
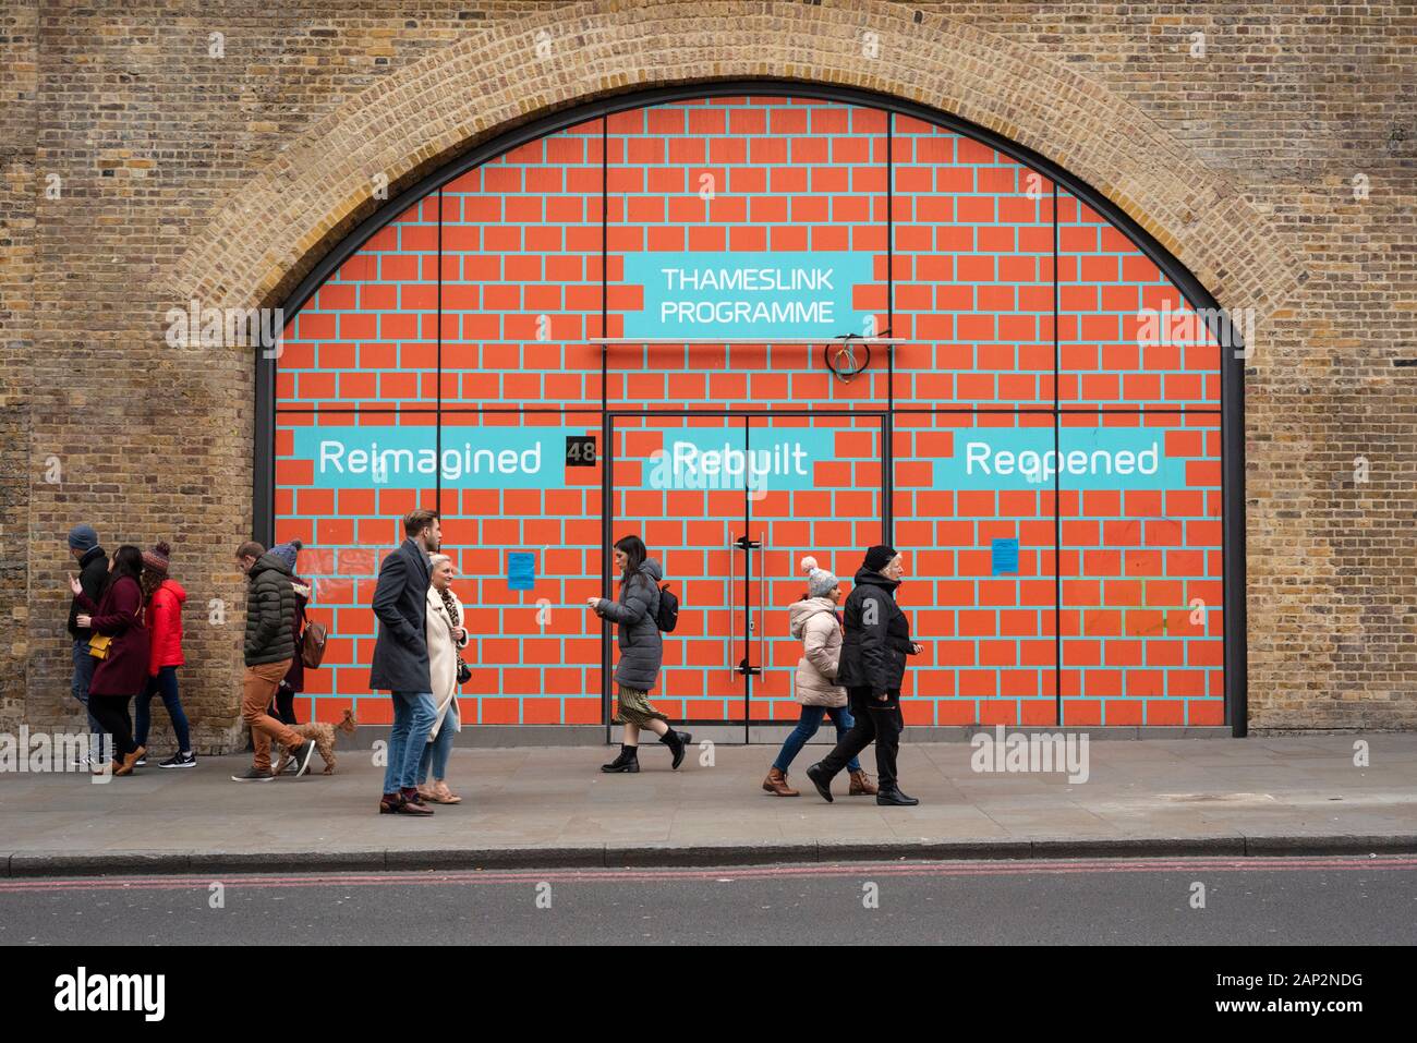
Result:
{"label": "grey asphalt road with red lines along the kerb", "polygon": [[1417,857],[0,880],[4,945],[244,945],[292,930],[332,945],[1411,945]]}

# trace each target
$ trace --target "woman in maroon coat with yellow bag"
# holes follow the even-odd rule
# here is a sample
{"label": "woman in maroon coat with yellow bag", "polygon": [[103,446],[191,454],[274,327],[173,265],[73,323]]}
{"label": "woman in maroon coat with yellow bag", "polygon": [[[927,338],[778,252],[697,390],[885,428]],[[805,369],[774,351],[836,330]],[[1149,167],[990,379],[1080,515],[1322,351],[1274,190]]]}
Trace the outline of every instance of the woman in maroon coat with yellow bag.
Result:
{"label": "woman in maroon coat with yellow bag", "polygon": [[113,737],[113,774],[132,775],[133,765],[146,751],[133,741],[133,718],[128,704],[147,687],[147,631],[143,628],[143,553],[123,544],[113,556],[108,581],[98,604],[84,594],[78,580],[69,577],[69,588],[79,608],[91,615],[79,616],[79,626],[112,638],[108,655],[94,672],[89,686],[89,709],[106,733]]}

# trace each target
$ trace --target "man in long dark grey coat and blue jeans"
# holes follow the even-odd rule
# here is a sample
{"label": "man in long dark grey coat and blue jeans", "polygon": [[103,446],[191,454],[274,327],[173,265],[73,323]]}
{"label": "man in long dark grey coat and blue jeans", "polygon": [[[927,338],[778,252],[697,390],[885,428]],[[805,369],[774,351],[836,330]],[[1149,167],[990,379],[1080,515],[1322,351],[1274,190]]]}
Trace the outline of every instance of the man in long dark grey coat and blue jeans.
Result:
{"label": "man in long dark grey coat and blue jeans", "polygon": [[368,686],[394,699],[394,727],[388,733],[388,767],[380,815],[432,815],[418,795],[418,760],[438,718],[428,665],[428,556],[442,546],[438,512],[404,516],[405,540],[378,567],[374,615],[378,641]]}

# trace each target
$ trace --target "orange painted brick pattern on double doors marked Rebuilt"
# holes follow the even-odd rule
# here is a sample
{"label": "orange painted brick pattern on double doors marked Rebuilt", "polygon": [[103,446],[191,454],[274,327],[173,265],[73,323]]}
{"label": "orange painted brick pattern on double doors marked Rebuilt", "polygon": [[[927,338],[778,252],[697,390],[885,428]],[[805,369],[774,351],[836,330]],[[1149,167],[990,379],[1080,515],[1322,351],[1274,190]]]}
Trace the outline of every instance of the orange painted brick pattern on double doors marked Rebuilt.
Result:
{"label": "orange painted brick pattern on double doors marked Rebuilt", "polygon": [[[803,557],[835,571],[845,592],[860,548],[880,541],[881,429],[880,417],[616,421],[614,533],[640,533],[680,598],[660,710],[687,720],[796,720],[792,675],[802,645],[788,632],[786,607],[803,595]],[[816,431],[830,448],[812,463],[809,487],[656,487],[650,472],[666,439],[684,431],[713,432],[735,451]],[[744,536],[760,548],[734,547]],[[734,672],[740,663],[761,672],[751,684]]]}

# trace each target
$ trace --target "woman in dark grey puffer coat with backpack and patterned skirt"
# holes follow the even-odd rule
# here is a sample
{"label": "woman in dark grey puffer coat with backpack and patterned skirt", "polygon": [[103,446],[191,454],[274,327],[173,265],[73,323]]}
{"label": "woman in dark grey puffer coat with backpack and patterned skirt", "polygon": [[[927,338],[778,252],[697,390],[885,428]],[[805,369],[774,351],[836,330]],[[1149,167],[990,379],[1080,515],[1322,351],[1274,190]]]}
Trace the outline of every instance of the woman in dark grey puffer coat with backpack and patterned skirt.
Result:
{"label": "woman in dark grey puffer coat with backpack and patterned skirt", "polygon": [[669,718],[649,703],[649,690],[659,677],[665,658],[665,639],[655,622],[659,614],[659,581],[665,578],[659,563],[648,557],[645,541],[638,536],[625,536],[615,543],[615,568],[619,570],[619,597],[588,598],[587,604],[602,619],[619,626],[619,666],[615,667],[615,683],[619,687],[615,724],[625,726],[621,752],[609,764],[602,764],[605,772],[639,771],[639,730],[648,728],[659,735],[659,741],[673,754],[673,767],[684,760],[684,747],[693,741],[686,731],[669,727]]}

